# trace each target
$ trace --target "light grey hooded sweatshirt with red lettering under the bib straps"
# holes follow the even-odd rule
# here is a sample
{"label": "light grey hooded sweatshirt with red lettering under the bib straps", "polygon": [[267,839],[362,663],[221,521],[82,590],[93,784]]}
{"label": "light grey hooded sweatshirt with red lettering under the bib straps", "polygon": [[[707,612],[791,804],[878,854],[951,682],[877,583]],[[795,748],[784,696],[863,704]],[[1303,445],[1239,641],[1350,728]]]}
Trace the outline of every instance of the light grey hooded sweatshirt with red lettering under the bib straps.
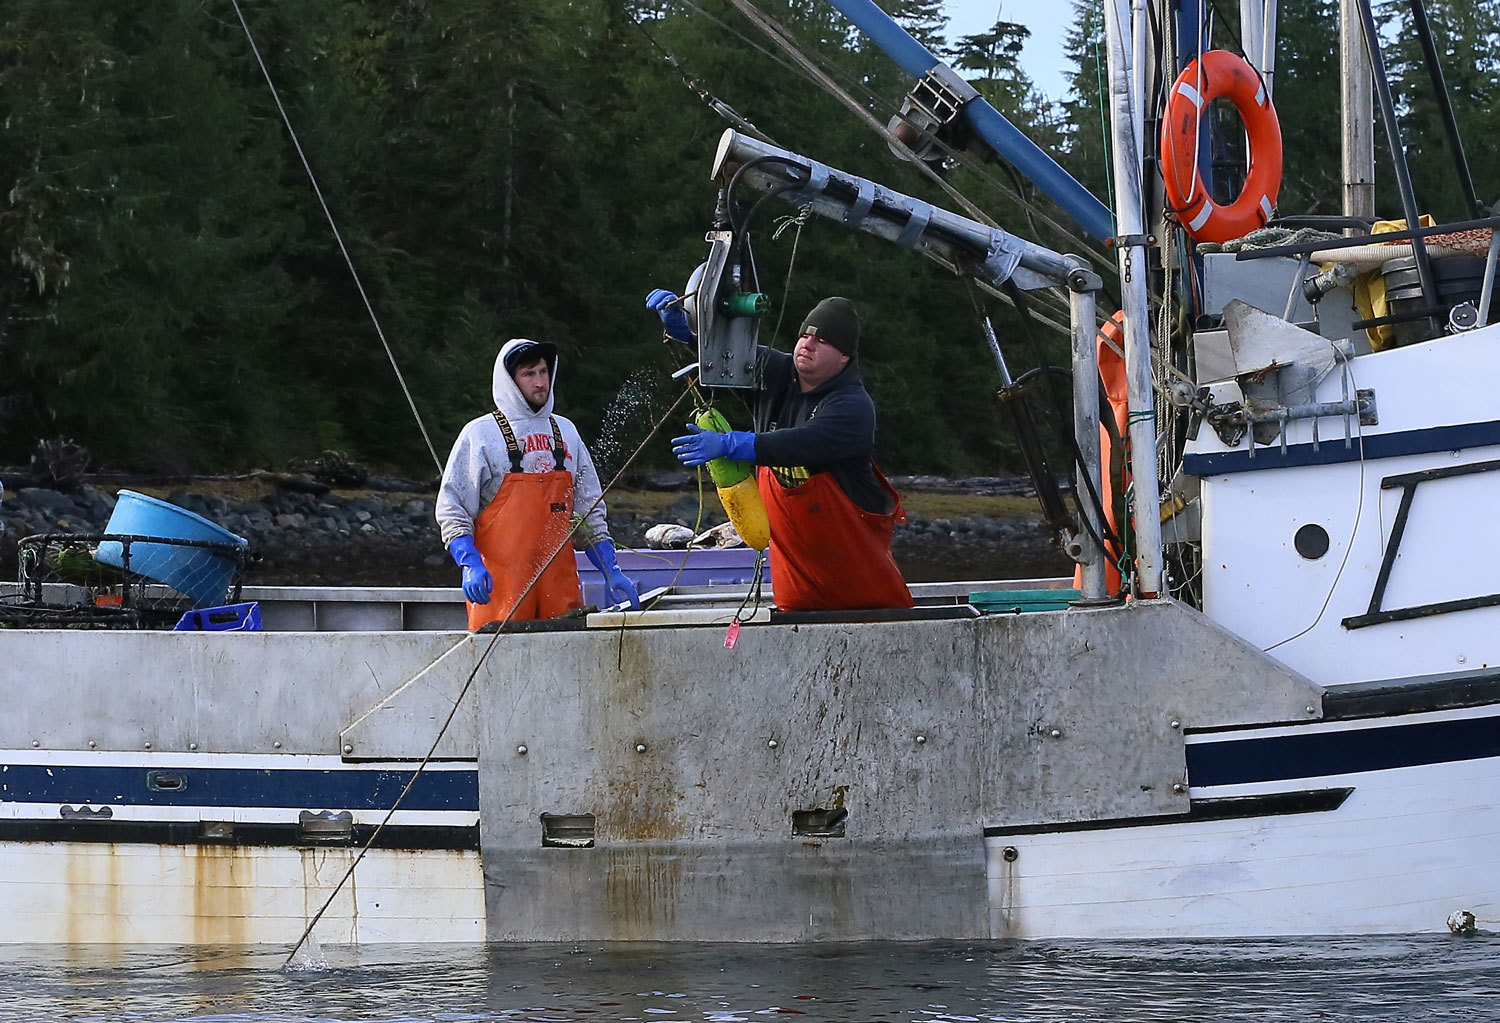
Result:
{"label": "light grey hooded sweatshirt with red lettering under the bib straps", "polygon": [[[525,338],[512,338],[495,357],[494,394],[495,408],[510,420],[510,429],[520,446],[520,468],[525,472],[550,472],[555,468],[552,459],[552,424],[548,417],[556,418],[558,429],[562,430],[562,446],[567,450],[562,466],[573,474],[573,510],[582,512],[592,506],[588,522],[573,534],[574,546],[590,546],[596,540],[609,538],[609,522],[604,519],[604,502],[598,501],[603,489],[598,486],[598,472],[594,471],[594,460],[584,447],[584,440],[578,435],[578,428],[562,416],[554,416],[552,402],[558,387],[558,360],[552,360],[552,392],[546,404],[532,411],[531,404],[522,398],[516,381],[506,372],[506,356],[518,345],[530,344]],[[442,483],[438,488],[436,519],[442,531],[442,546],[454,537],[472,536],[474,520],[480,512],[500,494],[501,480],[510,471],[510,454],[506,452],[506,438],[495,423],[495,417],[486,412],[471,420],[453,442],[448,453],[447,468],[442,470]]]}

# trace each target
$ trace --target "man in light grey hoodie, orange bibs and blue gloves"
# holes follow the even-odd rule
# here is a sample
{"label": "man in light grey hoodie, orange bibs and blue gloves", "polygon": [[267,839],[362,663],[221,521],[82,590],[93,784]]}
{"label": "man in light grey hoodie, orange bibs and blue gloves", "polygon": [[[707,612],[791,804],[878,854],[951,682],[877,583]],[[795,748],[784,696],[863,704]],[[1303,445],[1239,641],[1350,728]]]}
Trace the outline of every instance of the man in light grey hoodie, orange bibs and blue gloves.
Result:
{"label": "man in light grey hoodie, orange bibs and blue gloves", "polygon": [[442,470],[438,528],[464,570],[471,632],[507,615],[555,618],[584,606],[568,538],[574,507],[588,510],[574,536],[590,544],[610,600],[640,608],[615,560],[588,448],[552,412],[556,363],[550,344],[506,342],[495,357],[495,411],[464,428]]}

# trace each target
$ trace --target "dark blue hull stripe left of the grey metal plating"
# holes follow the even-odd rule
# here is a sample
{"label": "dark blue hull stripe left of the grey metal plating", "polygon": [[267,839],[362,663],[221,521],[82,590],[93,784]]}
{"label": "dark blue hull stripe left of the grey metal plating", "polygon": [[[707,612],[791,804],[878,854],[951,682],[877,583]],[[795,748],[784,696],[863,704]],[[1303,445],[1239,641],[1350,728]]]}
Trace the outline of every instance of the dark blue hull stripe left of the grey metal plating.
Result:
{"label": "dark blue hull stripe left of the grey metal plating", "polygon": [[[0,801],[86,806],[292,807],[388,810],[412,770],[144,768],[0,765]],[[177,776],[180,789],[153,789],[148,776]],[[477,771],[423,771],[402,810],[478,810]]]}

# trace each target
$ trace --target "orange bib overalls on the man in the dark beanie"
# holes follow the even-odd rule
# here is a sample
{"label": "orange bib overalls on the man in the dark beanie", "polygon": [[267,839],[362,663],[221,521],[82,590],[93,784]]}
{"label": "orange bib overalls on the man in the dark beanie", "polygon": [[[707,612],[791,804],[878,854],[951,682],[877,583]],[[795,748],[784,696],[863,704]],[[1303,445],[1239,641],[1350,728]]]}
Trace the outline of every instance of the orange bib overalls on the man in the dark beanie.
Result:
{"label": "orange bib overalls on the man in the dark beanie", "polygon": [[756,483],[771,524],[771,591],[782,610],[910,608],[912,592],[891,556],[891,534],[906,520],[902,498],[880,470],[892,510],[866,512],[831,472],[783,486],[760,466]]}

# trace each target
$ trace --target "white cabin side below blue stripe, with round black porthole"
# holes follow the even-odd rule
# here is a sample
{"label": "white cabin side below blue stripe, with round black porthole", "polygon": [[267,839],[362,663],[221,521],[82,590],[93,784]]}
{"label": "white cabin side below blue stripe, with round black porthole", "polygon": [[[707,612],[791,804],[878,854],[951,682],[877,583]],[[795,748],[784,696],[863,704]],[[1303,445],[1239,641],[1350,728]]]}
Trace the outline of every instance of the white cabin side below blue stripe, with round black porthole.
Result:
{"label": "white cabin side below blue stripe, with round black porthole", "polygon": [[[1342,626],[1370,608],[1395,518],[1400,495],[1380,480],[1496,458],[1488,447],[1204,478],[1204,614],[1324,686],[1500,663],[1500,608]],[[1382,606],[1500,590],[1500,537],[1484,534],[1500,524],[1467,528],[1486,507],[1500,507],[1500,472],[1424,483]],[[1329,536],[1316,561],[1293,546],[1310,522]]]}

